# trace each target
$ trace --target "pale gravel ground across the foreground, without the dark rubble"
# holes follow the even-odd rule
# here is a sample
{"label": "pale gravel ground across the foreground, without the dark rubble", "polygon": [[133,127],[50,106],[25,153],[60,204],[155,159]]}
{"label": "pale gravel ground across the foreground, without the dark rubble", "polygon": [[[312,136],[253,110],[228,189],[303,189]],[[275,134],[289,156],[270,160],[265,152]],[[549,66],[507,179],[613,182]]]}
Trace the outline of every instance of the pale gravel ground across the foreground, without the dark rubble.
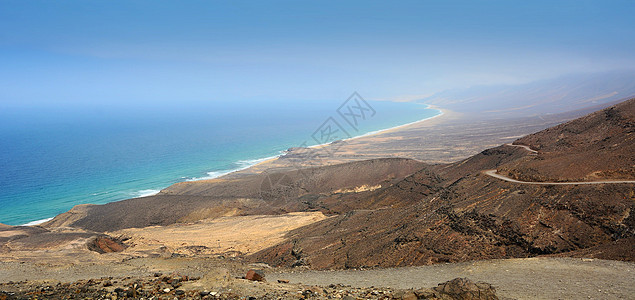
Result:
{"label": "pale gravel ground across the foreground, without the dark rubble", "polygon": [[[264,296],[280,296],[282,292],[300,295],[301,286],[329,285],[350,286],[344,288],[351,295],[364,298],[374,288],[388,289],[385,292],[406,289],[432,288],[439,283],[457,277],[467,277],[472,281],[491,283],[499,296],[514,299],[635,299],[635,263],[575,259],[575,258],[529,258],[487,260],[457,264],[440,264],[422,267],[405,267],[374,270],[311,271],[301,269],[280,270],[266,265],[248,265],[240,260],[220,258],[138,258],[117,263],[79,263],[67,266],[49,266],[34,263],[0,262],[0,286],[7,290],[29,286],[28,282],[74,283],[73,288],[83,288],[89,279],[97,280],[99,286],[104,278],[130,278],[132,282],[141,280],[143,286],[156,285],[148,278],[156,272],[180,274],[182,276],[208,278],[210,274],[220,274],[227,270],[228,278],[244,276],[250,268],[264,269],[266,279],[271,284],[262,285],[243,281],[230,281],[235,292]],[[136,279],[135,279],[136,278]],[[145,279],[144,279],[145,278]],[[217,285],[216,279],[195,281],[192,288],[203,290]],[[279,279],[289,280],[288,286],[273,285]],[[121,280],[123,283],[125,280]],[[233,279],[232,279],[233,280]],[[8,282],[19,282],[7,285]],[[43,283],[36,287],[41,288]],[[198,284],[198,286],[197,286]],[[122,286],[124,290],[130,284]],[[89,286],[90,287],[90,286]],[[58,286],[58,289],[60,287]],[[64,288],[64,286],[61,286]],[[114,290],[115,286],[109,287]],[[164,287],[161,286],[161,289]],[[355,290],[355,289],[362,290]],[[369,289],[370,290],[363,290]],[[341,287],[334,288],[339,290]],[[90,288],[89,288],[90,290]],[[150,291],[156,293],[156,287]],[[226,290],[226,289],[225,289]],[[160,291],[160,290],[159,290]],[[290,292],[291,291],[291,292]],[[112,292],[108,290],[108,292]],[[164,296],[172,295],[175,291]],[[297,293],[296,293],[297,292]],[[149,293],[149,292],[148,292]],[[103,296],[102,292],[89,292],[85,296]],[[196,293],[195,293],[196,294]],[[284,294],[284,298],[290,294]],[[198,295],[198,294],[196,294]],[[78,295],[79,296],[79,295]],[[171,298],[170,298],[171,299]]]}

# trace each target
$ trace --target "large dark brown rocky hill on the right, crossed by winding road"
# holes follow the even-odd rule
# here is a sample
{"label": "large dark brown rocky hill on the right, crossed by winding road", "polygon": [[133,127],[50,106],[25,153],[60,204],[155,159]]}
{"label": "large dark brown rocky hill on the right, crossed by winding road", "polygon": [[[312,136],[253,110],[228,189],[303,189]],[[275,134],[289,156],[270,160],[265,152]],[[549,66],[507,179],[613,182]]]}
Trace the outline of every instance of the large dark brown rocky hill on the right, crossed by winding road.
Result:
{"label": "large dark brown rocky hill on the right, crossed by winding road", "polygon": [[[516,141],[535,147],[537,155],[503,145],[454,164],[427,166],[370,194],[318,199],[315,205],[340,214],[299,228],[288,242],[252,258],[323,269],[567,253],[633,260],[634,183],[533,185],[483,171],[508,170],[527,180],[542,179],[535,174],[549,170],[565,180],[597,178],[580,174],[632,179],[634,108],[629,100]],[[550,161],[558,168],[543,171]]]}

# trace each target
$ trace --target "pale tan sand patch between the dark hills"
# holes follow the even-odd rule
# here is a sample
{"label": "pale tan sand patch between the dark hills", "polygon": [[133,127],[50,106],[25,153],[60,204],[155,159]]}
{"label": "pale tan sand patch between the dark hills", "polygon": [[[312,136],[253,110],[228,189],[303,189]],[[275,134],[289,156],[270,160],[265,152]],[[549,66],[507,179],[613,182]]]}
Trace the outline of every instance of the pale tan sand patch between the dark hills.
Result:
{"label": "pale tan sand patch between the dark hills", "polygon": [[[289,231],[326,219],[321,212],[297,212],[272,216],[230,216],[191,224],[129,228],[110,233],[130,237],[125,252],[169,251],[204,247],[205,253],[250,254],[284,241]],[[201,248],[202,248],[201,247]]]}

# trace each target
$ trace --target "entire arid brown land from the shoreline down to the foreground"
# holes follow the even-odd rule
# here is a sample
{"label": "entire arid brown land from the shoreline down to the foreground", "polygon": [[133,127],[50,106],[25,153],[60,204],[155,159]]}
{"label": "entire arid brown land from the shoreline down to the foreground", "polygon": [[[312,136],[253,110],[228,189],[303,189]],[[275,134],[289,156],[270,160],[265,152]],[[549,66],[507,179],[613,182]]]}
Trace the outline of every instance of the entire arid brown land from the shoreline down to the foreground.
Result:
{"label": "entire arid brown land from the shoreline down to the foreground", "polygon": [[[469,121],[446,111],[309,149],[317,156],[291,149],[155,196],[2,225],[0,299],[629,298],[635,100],[574,119],[589,110]],[[268,281],[236,279],[249,269]],[[432,289],[458,277],[496,291]]]}

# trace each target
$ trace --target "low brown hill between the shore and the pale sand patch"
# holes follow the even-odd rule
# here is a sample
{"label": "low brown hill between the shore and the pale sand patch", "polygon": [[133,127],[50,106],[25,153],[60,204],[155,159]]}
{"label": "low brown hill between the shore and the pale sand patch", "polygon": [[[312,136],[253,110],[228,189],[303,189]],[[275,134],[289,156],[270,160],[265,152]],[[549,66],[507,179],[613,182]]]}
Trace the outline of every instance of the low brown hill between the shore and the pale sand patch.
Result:
{"label": "low brown hill between the shore and the pale sand patch", "polygon": [[151,197],[78,205],[43,227],[103,232],[222,216],[311,211],[318,207],[310,199],[389,186],[423,165],[411,159],[387,158],[233,179],[182,182]]}

